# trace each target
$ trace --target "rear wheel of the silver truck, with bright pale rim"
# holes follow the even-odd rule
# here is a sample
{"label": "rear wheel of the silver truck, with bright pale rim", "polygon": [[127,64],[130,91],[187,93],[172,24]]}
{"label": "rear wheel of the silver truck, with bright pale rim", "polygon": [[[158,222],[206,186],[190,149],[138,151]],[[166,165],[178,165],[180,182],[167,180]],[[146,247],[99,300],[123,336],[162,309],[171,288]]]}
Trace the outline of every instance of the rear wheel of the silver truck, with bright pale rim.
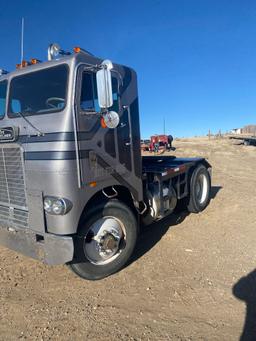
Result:
{"label": "rear wheel of the silver truck, with bright pale rim", "polygon": [[204,165],[197,166],[190,179],[188,211],[199,213],[210,202],[211,177]]}

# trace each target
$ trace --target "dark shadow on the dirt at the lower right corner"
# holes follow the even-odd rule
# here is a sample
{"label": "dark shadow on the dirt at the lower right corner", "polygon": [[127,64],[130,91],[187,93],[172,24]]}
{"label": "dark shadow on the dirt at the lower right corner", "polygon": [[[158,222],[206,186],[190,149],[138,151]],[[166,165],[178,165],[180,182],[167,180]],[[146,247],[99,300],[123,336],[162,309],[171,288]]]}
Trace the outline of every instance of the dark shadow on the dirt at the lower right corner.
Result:
{"label": "dark shadow on the dirt at the lower right corner", "polygon": [[246,304],[246,316],[240,341],[256,340],[256,270],[233,286],[233,295]]}

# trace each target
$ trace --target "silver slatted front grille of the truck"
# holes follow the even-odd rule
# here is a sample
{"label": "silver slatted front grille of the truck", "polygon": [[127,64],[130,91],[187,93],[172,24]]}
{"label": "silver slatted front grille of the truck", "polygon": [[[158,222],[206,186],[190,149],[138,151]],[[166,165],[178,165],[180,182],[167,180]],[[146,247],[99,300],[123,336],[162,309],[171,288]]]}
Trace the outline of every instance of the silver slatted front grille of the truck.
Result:
{"label": "silver slatted front grille of the truck", "polygon": [[23,152],[19,146],[0,146],[0,225],[27,226]]}

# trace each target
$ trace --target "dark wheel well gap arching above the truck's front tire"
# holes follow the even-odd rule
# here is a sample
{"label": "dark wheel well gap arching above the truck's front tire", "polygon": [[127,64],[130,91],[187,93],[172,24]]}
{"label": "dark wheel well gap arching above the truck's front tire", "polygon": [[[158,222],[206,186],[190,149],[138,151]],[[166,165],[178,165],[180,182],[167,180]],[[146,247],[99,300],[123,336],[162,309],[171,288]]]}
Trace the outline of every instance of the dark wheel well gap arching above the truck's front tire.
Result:
{"label": "dark wheel well gap arching above the truck's front tire", "polygon": [[[138,212],[134,206],[131,192],[124,186],[116,186],[115,185],[114,188],[117,191],[117,196],[115,196],[113,199],[119,200],[119,201],[123,202],[124,204],[126,204],[127,206],[129,206],[129,208],[133,211],[135,217],[137,218]],[[95,193],[90,198],[90,200],[86,203],[86,205],[83,209],[83,212],[80,216],[78,228],[79,228],[80,221],[81,221],[82,217],[86,214],[87,211],[90,210],[90,208],[94,207],[95,205],[97,205],[100,202],[107,202],[109,200],[112,200],[110,198],[107,198],[103,194],[102,190],[104,190],[106,193],[110,193],[112,191],[112,186],[105,187],[105,188],[101,189],[99,192]]]}

